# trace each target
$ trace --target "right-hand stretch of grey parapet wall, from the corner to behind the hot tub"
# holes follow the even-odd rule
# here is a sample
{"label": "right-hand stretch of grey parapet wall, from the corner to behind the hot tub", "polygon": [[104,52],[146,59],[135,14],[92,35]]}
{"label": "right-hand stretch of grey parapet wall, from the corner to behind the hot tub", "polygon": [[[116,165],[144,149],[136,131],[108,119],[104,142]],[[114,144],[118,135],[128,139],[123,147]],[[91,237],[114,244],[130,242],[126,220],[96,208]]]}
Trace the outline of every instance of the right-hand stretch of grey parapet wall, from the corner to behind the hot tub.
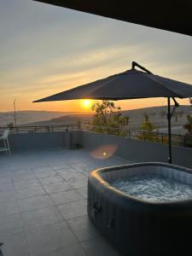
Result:
{"label": "right-hand stretch of grey parapet wall, from the corner to behind the hot tub", "polygon": [[[116,145],[115,154],[133,162],[167,162],[168,157],[168,146],[164,144],[143,142],[89,131],[82,131],[82,143],[84,148],[89,148],[90,150],[104,145]],[[172,164],[192,168],[192,149],[172,147]]]}

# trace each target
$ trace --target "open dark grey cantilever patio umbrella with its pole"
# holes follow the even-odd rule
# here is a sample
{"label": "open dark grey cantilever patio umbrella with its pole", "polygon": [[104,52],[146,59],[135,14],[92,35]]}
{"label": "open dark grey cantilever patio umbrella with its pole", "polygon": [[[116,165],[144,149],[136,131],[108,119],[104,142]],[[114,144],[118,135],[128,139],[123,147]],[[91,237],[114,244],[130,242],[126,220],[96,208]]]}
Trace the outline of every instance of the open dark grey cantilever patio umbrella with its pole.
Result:
{"label": "open dark grey cantilever patio umbrella with its pole", "polygon": [[[137,70],[139,67],[141,70]],[[169,135],[169,158],[172,163],[172,139],[171,119],[172,113],[178,103],[177,98],[188,98],[192,96],[192,85],[166,79],[149,72],[145,67],[132,62],[131,70],[118,73],[106,79],[80,85],[71,90],[65,90],[53,96],[48,96],[35,102],[52,102],[75,99],[97,99],[97,100],[125,100],[151,97],[166,97],[168,104],[168,135]],[[171,111],[171,98],[175,103]]]}

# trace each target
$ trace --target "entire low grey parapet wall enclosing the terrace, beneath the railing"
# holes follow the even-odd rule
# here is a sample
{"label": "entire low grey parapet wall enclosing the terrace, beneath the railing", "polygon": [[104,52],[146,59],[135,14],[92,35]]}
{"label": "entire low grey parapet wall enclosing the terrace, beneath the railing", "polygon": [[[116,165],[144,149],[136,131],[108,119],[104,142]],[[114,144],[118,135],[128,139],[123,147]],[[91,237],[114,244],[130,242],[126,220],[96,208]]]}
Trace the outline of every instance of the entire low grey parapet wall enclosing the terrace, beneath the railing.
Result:
{"label": "entire low grey parapet wall enclosing the terrace, beneath the railing", "polygon": [[[167,162],[168,156],[167,145],[90,131],[18,133],[9,136],[9,143],[12,151],[32,148],[69,148],[69,143],[80,143],[85,149],[93,150],[113,144],[117,147],[114,154],[133,162]],[[172,163],[192,168],[192,149],[172,147]]]}

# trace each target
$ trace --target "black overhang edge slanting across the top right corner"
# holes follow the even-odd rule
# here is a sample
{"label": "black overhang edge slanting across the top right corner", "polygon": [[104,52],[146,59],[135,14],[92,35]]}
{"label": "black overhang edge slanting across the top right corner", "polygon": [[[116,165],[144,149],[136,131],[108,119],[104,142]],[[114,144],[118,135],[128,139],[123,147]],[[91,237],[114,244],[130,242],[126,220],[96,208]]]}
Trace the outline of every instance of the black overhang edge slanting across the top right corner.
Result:
{"label": "black overhang edge slanting across the top right corner", "polygon": [[35,0],[192,36],[190,0]]}

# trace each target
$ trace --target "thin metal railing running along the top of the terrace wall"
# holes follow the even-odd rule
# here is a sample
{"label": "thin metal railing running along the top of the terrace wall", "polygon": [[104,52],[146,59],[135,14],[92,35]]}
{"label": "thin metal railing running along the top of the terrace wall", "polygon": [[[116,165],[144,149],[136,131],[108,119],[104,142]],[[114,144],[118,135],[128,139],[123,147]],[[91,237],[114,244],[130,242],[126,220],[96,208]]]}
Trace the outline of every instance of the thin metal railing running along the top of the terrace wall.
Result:
{"label": "thin metal railing running along the top of the terrace wall", "polygon": [[[0,133],[2,133],[8,127],[0,127]],[[141,130],[129,130],[125,127],[114,128],[101,125],[20,125],[10,127],[10,133],[35,133],[35,132],[55,132],[55,131],[94,131],[99,133],[105,133],[109,135],[115,135],[119,137],[127,137],[130,139],[150,141],[154,143],[168,144],[168,134],[162,132],[148,132]],[[176,135],[172,134],[172,145],[179,147],[192,148],[192,137],[187,135]]]}

